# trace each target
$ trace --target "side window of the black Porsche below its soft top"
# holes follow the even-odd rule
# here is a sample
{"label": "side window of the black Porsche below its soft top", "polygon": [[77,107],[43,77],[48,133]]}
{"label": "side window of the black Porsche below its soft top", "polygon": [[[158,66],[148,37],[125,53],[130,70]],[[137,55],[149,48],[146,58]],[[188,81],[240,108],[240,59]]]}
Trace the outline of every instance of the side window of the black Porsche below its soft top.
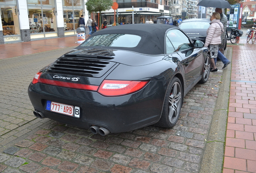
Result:
{"label": "side window of the black Porsche below its soft top", "polygon": [[[166,38],[166,53],[167,54],[171,53],[171,51],[172,52],[181,51],[181,50],[185,50],[185,49],[192,47],[192,45],[189,41],[189,38],[178,29],[169,30],[167,32],[166,37],[167,37]],[[169,50],[169,42],[174,47],[174,51]]]}

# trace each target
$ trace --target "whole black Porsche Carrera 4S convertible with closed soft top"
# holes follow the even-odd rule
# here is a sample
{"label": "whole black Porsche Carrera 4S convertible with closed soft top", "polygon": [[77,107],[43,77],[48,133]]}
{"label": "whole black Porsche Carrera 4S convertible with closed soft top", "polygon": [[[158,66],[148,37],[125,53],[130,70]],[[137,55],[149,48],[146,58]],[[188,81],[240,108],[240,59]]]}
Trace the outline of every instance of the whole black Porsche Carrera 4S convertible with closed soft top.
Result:
{"label": "whole black Porsche Carrera 4S convertible with closed soft top", "polygon": [[95,32],[35,75],[28,88],[33,113],[100,135],[173,127],[184,95],[209,78],[203,46],[171,25]]}

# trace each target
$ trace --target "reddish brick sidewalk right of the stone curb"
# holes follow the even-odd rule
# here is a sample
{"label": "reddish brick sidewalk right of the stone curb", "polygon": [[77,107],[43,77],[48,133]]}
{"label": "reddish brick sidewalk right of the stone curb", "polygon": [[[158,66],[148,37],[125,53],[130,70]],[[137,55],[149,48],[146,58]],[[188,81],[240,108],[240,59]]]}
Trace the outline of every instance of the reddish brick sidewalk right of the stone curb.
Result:
{"label": "reddish brick sidewalk right of the stone curb", "polygon": [[223,173],[256,173],[256,44],[233,47]]}

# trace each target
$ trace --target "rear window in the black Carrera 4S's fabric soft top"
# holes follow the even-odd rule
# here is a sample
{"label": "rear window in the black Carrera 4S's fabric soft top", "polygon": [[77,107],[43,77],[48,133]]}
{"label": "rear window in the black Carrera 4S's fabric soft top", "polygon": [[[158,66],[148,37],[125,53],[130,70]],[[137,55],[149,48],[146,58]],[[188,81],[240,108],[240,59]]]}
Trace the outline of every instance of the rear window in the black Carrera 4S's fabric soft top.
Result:
{"label": "rear window in the black Carrera 4S's fabric soft top", "polygon": [[132,34],[103,34],[86,40],[81,46],[136,47],[141,37]]}

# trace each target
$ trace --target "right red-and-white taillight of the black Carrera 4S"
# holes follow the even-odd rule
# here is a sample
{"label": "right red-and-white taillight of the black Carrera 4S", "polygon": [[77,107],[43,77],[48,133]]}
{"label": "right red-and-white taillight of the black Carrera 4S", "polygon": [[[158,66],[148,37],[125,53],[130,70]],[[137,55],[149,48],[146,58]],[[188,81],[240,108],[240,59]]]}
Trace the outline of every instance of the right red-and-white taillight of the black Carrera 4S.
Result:
{"label": "right red-and-white taillight of the black Carrera 4S", "polygon": [[105,96],[127,95],[139,91],[149,81],[104,80],[99,86],[98,93]]}

